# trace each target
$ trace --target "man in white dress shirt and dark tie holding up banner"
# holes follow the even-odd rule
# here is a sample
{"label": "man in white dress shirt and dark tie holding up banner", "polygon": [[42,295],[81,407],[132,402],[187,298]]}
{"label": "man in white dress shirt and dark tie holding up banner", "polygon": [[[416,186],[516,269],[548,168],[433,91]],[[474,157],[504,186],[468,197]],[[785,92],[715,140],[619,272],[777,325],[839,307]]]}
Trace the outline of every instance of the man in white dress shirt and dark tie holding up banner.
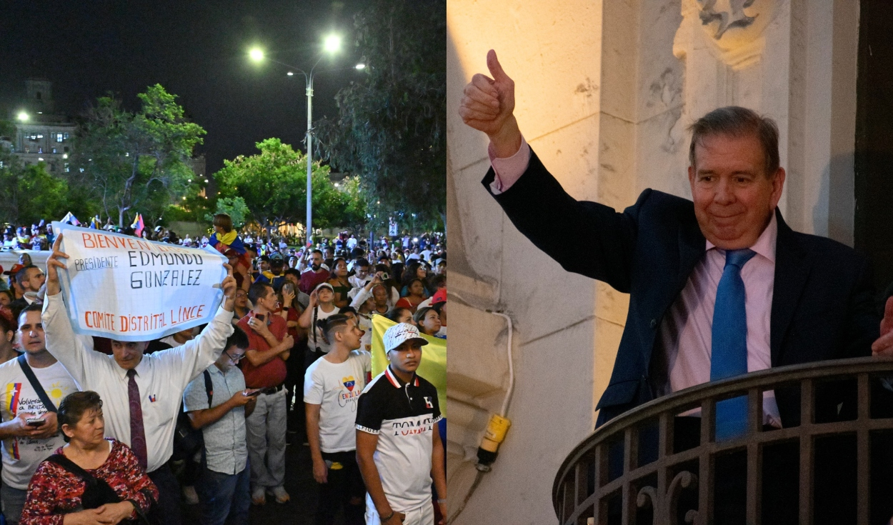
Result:
{"label": "man in white dress shirt and dark tie holding up banner", "polygon": [[[91,349],[89,338],[78,337],[71,329],[59,293],[58,269],[65,267],[59,259],[68,258],[59,251],[61,239],[62,235],[56,237],[53,254],[46,261],[46,349],[63,363],[82,389],[94,390],[102,397],[105,435],[133,449],[158,487],[159,501],[150,518],[179,525],[179,487],[168,464],[173,454],[173,431],[189,381],[217,361],[233,332],[230,321],[237,286],[232,269],[227,265],[229,275],[221,283],[226,299],[195,339],[148,355],[143,355],[148,341],[112,341],[113,355],[106,355]],[[140,420],[142,425],[138,424]]]}

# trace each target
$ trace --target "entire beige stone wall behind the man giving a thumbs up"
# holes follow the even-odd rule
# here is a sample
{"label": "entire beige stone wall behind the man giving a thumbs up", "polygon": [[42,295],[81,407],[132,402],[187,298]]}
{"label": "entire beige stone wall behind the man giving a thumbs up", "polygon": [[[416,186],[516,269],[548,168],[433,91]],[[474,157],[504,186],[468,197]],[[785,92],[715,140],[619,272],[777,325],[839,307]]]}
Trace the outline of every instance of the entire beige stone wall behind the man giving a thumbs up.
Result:
{"label": "entire beige stone wall behind the man giving a thumbs up", "polygon": [[513,318],[516,377],[513,427],[457,525],[555,521],[555,471],[592,430],[628,307],[540,253],[480,186],[487,138],[456,111],[472,74],[487,72],[488,49],[515,80],[524,136],[572,196],[617,210],[647,187],[690,196],[686,127],[715,107],[746,105],[779,123],[789,223],[852,244],[858,4],[743,4],[447,4],[451,509],[507,387],[505,321],[488,309]]}

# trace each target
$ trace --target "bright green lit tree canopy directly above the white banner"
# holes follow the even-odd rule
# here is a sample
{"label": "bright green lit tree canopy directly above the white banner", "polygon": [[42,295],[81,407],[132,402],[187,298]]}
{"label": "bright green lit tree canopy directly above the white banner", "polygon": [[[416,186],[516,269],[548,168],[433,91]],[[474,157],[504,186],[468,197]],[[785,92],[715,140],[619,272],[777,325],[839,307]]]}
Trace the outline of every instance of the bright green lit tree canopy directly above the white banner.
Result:
{"label": "bright green lit tree canopy directly above the white banner", "polygon": [[160,84],[138,98],[139,111],[127,112],[119,99],[99,97],[72,145],[70,182],[87,187],[121,227],[129,210],[154,219],[187,192],[189,159],[205,134]]}

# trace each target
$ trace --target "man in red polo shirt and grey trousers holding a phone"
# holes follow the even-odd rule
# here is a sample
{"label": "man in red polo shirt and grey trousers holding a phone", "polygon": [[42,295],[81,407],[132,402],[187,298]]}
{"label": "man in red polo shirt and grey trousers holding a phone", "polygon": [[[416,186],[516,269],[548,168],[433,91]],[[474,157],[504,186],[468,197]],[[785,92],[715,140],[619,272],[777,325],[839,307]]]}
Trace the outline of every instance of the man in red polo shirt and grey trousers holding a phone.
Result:
{"label": "man in red polo shirt and grey trousers holding a phone", "polygon": [[275,315],[278,297],[273,287],[255,282],[248,288],[254,310],[238,321],[248,336],[245,359],[240,363],[248,388],[261,388],[254,412],[246,420],[248,459],[251,464],[251,501],[265,504],[269,492],[276,502],[288,501],[285,491],[286,360],[295,345],[286,321]]}

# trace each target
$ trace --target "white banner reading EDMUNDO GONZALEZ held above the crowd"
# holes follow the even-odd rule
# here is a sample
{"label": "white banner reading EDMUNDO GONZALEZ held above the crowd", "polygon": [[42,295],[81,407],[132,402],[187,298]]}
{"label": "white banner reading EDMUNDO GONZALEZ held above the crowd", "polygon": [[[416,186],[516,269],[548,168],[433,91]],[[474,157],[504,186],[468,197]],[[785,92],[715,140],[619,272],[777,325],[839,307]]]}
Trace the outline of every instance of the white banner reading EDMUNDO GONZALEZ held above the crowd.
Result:
{"label": "white banner reading EDMUNDO GONZALEZ held above the crowd", "polygon": [[211,322],[226,257],[101,229],[53,222],[63,233],[59,280],[75,333],[151,341]]}

